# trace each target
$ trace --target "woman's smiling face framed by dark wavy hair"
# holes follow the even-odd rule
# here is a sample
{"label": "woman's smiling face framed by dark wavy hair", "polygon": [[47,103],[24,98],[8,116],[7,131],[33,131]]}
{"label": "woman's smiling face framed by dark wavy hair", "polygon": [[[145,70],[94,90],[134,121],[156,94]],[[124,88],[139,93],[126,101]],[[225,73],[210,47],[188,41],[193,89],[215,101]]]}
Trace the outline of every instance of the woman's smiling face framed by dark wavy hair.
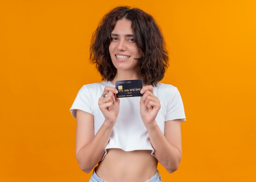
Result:
{"label": "woman's smiling face framed by dark wavy hair", "polygon": [[130,20],[118,20],[111,32],[112,40],[108,49],[112,63],[119,73],[120,71],[137,71],[136,58],[141,57],[131,24]]}

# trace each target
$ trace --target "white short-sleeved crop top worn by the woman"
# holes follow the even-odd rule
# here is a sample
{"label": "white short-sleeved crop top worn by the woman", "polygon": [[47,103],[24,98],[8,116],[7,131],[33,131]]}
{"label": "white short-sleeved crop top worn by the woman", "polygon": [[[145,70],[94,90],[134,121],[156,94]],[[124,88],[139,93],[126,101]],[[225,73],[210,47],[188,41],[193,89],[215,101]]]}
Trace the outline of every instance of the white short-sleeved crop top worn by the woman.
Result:
{"label": "white short-sleeved crop top worn by the woman", "polygon": [[[99,109],[98,99],[101,97],[106,86],[115,87],[114,84],[108,81],[84,85],[79,90],[70,108],[74,118],[76,118],[76,109],[94,115],[94,135],[105,120]],[[166,121],[175,119],[180,119],[181,121],[185,120],[182,98],[176,87],[170,84],[157,83],[157,87],[153,87],[153,92],[161,103],[161,109],[155,120],[162,133],[164,133],[164,123]],[[155,150],[150,143],[148,132],[140,117],[140,97],[119,99],[120,110],[117,122],[112,129],[103,158],[107,154],[107,149],[113,148],[122,149],[124,151],[151,150],[151,155],[155,156]]]}

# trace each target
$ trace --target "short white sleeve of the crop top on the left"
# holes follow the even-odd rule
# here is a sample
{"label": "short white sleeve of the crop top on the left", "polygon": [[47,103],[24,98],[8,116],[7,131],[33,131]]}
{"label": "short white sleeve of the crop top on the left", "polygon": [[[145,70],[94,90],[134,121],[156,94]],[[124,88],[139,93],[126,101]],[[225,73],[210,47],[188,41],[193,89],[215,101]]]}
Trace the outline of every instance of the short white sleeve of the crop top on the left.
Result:
{"label": "short white sleeve of the crop top on the left", "polygon": [[70,112],[74,118],[76,118],[76,110],[82,110],[87,113],[92,114],[92,98],[91,94],[88,91],[88,87],[84,85],[76,95],[76,98],[70,108]]}

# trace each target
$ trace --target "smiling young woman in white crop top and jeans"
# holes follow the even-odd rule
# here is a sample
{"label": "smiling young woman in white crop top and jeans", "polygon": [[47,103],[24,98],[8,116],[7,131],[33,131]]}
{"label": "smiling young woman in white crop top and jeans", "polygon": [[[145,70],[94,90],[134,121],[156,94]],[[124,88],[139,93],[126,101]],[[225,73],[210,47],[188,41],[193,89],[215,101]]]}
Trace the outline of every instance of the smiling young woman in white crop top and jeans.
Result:
{"label": "smiling young woman in white crop top and jeans", "polygon": [[[168,66],[155,20],[141,9],[117,7],[92,37],[90,59],[103,82],[84,85],[70,109],[77,120],[76,158],[90,182],[159,182],[182,157],[184,107],[176,87],[158,83]],[[117,80],[143,80],[141,97],[117,98]]]}

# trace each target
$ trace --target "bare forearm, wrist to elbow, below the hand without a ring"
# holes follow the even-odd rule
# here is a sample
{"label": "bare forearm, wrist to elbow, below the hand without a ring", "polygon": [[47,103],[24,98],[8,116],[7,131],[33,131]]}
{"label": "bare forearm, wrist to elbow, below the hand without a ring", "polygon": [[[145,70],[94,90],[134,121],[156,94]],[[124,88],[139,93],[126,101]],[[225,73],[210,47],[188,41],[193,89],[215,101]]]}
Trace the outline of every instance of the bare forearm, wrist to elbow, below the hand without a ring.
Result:
{"label": "bare forearm, wrist to elbow, below the hand without a ring", "polygon": [[150,142],[155,150],[155,156],[169,173],[177,170],[182,157],[182,151],[168,142],[162,131],[153,122],[147,126]]}

